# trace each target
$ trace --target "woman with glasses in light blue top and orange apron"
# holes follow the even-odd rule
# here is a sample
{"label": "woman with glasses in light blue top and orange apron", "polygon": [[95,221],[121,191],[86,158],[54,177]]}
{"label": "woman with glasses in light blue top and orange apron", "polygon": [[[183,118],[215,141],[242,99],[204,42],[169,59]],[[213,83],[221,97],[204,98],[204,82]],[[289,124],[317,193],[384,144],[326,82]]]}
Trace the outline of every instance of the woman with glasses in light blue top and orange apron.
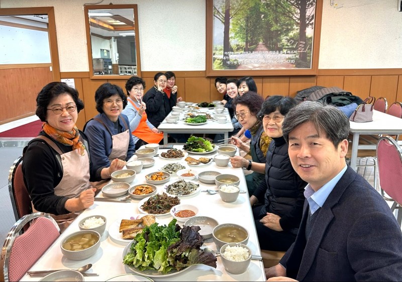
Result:
{"label": "woman with glasses in light blue top and orange apron", "polygon": [[149,143],[159,143],[163,134],[147,118],[146,104],[142,101],[145,81],[138,76],[130,77],[126,82],[128,105],[123,110],[130,122],[135,149]]}

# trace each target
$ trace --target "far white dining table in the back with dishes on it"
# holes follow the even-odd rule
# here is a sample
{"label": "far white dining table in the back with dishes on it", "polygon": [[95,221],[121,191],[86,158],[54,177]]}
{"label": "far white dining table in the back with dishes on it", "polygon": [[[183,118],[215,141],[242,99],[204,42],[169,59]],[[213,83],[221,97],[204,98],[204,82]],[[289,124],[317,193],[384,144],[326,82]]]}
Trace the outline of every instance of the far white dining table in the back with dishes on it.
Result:
{"label": "far white dining table in the back with dishes on it", "polygon": [[[178,108],[178,107],[177,107]],[[166,121],[167,117],[171,117],[174,111],[172,110],[166,118],[161,122],[158,126],[158,130],[163,132],[163,144],[168,143],[168,134],[169,133],[182,133],[182,134],[224,134],[224,143],[227,143],[227,139],[229,136],[229,132],[234,130],[231,117],[229,115],[229,111],[227,108],[224,108],[224,112],[219,115],[226,116],[225,123],[219,123],[217,119],[215,119],[215,109],[214,108],[198,108],[196,106],[185,106],[180,112],[179,119],[175,123],[168,123]],[[186,123],[185,119],[188,117],[188,113],[194,114],[209,114],[211,119],[208,119],[206,123],[203,124],[190,124]],[[177,143],[173,143],[177,144]]]}

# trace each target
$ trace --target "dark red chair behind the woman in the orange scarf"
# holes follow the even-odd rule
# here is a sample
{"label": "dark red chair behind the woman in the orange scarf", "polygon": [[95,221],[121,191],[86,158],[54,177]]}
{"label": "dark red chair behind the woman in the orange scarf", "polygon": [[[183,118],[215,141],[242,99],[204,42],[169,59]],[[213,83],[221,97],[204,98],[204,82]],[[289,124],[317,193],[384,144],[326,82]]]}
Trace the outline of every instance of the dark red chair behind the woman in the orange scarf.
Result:
{"label": "dark red chair behind the woman in the orange scarf", "polygon": [[[21,166],[22,156],[14,161],[9,172],[9,193],[16,221],[23,216],[32,213],[31,198],[24,183]],[[24,230],[28,227],[29,225],[27,225]]]}

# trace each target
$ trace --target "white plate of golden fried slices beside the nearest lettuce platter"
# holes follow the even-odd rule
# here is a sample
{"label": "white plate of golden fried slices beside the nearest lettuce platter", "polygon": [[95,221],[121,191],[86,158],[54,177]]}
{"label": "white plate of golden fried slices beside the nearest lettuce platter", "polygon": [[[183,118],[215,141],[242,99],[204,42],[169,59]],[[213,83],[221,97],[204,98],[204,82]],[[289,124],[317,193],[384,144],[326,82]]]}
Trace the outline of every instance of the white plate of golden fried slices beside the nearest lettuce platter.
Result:
{"label": "white plate of golden fried slices beside the nearest lettuce platter", "polygon": [[134,215],[118,219],[109,227],[109,236],[117,244],[127,245],[134,237],[141,233],[145,226],[156,222],[153,215]]}

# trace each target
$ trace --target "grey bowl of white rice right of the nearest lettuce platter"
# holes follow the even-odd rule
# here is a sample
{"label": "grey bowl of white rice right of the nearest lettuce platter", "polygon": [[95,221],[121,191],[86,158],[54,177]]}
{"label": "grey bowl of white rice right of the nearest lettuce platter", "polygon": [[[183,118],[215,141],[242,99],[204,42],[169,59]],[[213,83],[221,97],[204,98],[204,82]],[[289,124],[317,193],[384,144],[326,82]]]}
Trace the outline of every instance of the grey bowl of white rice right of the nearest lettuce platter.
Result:
{"label": "grey bowl of white rice right of the nearest lettuce platter", "polygon": [[251,249],[241,243],[227,243],[221,247],[223,266],[232,274],[241,274],[247,270],[251,254]]}

